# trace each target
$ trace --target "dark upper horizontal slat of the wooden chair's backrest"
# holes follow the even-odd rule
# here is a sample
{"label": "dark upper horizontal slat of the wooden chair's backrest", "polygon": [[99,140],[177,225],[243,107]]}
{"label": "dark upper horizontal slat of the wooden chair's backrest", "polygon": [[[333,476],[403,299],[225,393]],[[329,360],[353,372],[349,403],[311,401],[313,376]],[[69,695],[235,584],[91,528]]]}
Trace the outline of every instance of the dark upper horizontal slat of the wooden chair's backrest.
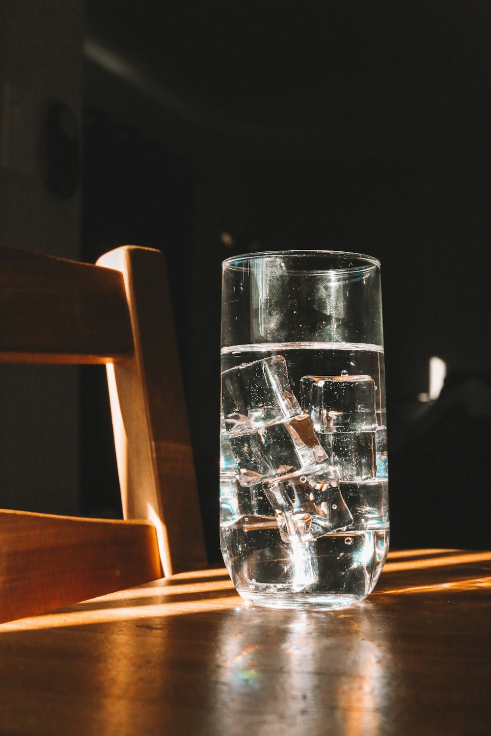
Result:
{"label": "dark upper horizontal slat of the wooden chair's backrest", "polygon": [[107,363],[132,355],[121,274],[0,246],[0,361]]}

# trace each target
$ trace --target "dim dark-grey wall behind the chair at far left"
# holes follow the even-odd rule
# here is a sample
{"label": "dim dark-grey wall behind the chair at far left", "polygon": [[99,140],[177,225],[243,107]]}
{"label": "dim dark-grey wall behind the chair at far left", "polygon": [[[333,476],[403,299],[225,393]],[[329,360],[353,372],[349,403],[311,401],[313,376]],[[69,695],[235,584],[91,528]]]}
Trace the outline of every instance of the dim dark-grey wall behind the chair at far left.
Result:
{"label": "dim dark-grey wall behind the chair at far left", "polygon": [[[82,0],[0,3],[0,241],[70,258],[80,186],[49,185],[46,124],[62,103],[80,137],[82,18]],[[78,422],[77,368],[0,366],[0,506],[77,511]]]}

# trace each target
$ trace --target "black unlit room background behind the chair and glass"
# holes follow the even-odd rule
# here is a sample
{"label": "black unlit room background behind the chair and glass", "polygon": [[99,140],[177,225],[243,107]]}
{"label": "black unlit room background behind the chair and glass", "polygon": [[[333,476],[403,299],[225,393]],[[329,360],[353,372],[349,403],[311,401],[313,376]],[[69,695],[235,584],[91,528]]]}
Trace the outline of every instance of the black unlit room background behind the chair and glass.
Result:
{"label": "black unlit room background behind the chair and glass", "polygon": [[[490,42],[484,0],[86,0],[82,258],[166,254],[211,562],[220,263],[255,250],[380,258],[392,546],[489,546]],[[82,369],[91,513],[119,509],[106,390]]]}

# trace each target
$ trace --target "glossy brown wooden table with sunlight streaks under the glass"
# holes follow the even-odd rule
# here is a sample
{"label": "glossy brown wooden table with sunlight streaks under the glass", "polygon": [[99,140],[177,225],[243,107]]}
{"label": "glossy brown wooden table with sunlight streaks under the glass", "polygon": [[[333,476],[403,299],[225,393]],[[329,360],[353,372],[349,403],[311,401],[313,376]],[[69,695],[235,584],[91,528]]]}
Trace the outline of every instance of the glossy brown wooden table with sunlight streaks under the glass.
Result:
{"label": "glossy brown wooden table with sunlight streaks under the glass", "polygon": [[488,552],[393,552],[335,612],[181,574],[1,625],[0,733],[490,734],[490,612]]}

